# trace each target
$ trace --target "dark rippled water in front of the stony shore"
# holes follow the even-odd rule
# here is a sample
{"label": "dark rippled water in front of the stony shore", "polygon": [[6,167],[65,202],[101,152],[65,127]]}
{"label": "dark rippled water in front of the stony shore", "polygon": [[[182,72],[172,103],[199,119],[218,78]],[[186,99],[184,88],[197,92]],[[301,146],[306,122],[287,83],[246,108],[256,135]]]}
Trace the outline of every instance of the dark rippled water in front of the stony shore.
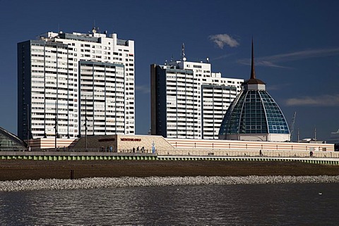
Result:
{"label": "dark rippled water in front of the stony shore", "polygon": [[339,184],[0,192],[0,225],[338,225]]}

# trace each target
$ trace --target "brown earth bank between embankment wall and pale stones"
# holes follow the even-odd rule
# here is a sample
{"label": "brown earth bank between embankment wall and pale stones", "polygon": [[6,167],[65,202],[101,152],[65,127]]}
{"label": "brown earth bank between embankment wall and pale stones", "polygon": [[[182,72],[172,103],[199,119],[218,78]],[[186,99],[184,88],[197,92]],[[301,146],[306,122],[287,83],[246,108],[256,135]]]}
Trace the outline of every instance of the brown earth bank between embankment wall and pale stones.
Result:
{"label": "brown earth bank between embankment wall and pale stones", "polygon": [[319,176],[339,165],[298,161],[0,161],[0,181],[85,177]]}

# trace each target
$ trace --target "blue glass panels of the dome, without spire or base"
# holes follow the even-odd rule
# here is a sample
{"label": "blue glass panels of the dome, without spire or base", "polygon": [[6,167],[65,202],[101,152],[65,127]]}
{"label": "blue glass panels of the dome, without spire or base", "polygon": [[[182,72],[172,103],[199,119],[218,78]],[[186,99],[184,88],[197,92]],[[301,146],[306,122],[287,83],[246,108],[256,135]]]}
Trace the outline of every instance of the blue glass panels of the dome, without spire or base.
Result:
{"label": "blue glass panels of the dome, without spire or base", "polygon": [[228,108],[219,136],[268,133],[290,134],[283,112],[266,90],[243,90]]}

